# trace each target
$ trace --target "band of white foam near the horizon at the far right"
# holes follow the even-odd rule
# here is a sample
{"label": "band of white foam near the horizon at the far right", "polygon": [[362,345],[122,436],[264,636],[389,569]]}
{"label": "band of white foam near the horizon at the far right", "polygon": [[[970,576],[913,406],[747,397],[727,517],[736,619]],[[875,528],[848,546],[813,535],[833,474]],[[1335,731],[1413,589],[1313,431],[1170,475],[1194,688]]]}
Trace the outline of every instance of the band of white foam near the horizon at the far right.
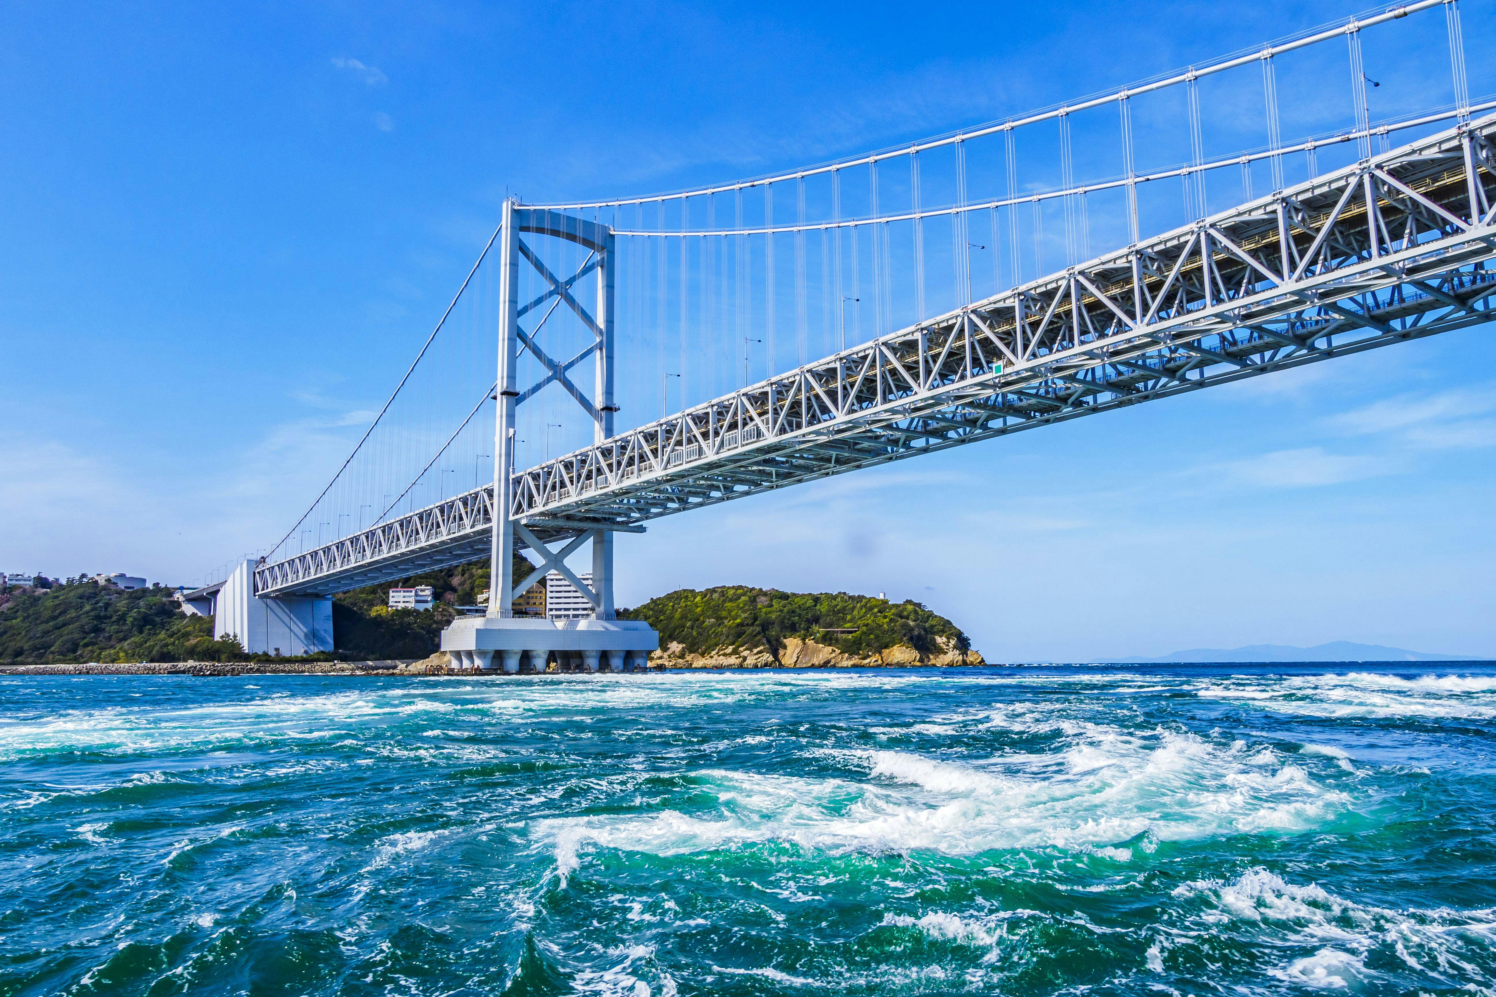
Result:
{"label": "band of white foam near the horizon at the far right", "polygon": [[1293,677],[1206,679],[1195,695],[1251,704],[1278,713],[1322,717],[1496,717],[1496,677],[1418,676],[1369,671]]}

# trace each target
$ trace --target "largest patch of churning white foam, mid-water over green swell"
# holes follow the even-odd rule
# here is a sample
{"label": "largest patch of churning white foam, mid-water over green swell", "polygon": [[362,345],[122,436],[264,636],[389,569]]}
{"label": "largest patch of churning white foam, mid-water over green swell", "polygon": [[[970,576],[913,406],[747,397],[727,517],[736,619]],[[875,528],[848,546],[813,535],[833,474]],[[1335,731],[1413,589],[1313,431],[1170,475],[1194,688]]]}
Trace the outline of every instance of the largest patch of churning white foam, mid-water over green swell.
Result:
{"label": "largest patch of churning white foam, mid-water over green swell", "polygon": [[[697,815],[589,815],[537,821],[562,877],[589,848],[657,855],[785,842],[808,849],[936,851],[1061,848],[1131,861],[1122,843],[1322,828],[1357,800],[1321,785],[1294,755],[1158,728],[1071,723],[1050,755],[981,765],[896,750],[820,749],[848,776],[735,770],[694,773],[718,807]],[[860,771],[859,771],[860,770]]]}

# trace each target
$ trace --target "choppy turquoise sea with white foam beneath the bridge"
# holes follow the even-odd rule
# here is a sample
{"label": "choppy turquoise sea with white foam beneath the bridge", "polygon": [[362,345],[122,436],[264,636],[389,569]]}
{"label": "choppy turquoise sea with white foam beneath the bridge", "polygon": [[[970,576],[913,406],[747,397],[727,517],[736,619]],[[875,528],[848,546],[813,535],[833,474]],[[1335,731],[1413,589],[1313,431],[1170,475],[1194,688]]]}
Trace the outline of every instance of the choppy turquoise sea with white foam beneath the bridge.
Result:
{"label": "choppy turquoise sea with white foam beneath the bridge", "polygon": [[1496,988],[1496,667],[0,703],[4,996]]}

